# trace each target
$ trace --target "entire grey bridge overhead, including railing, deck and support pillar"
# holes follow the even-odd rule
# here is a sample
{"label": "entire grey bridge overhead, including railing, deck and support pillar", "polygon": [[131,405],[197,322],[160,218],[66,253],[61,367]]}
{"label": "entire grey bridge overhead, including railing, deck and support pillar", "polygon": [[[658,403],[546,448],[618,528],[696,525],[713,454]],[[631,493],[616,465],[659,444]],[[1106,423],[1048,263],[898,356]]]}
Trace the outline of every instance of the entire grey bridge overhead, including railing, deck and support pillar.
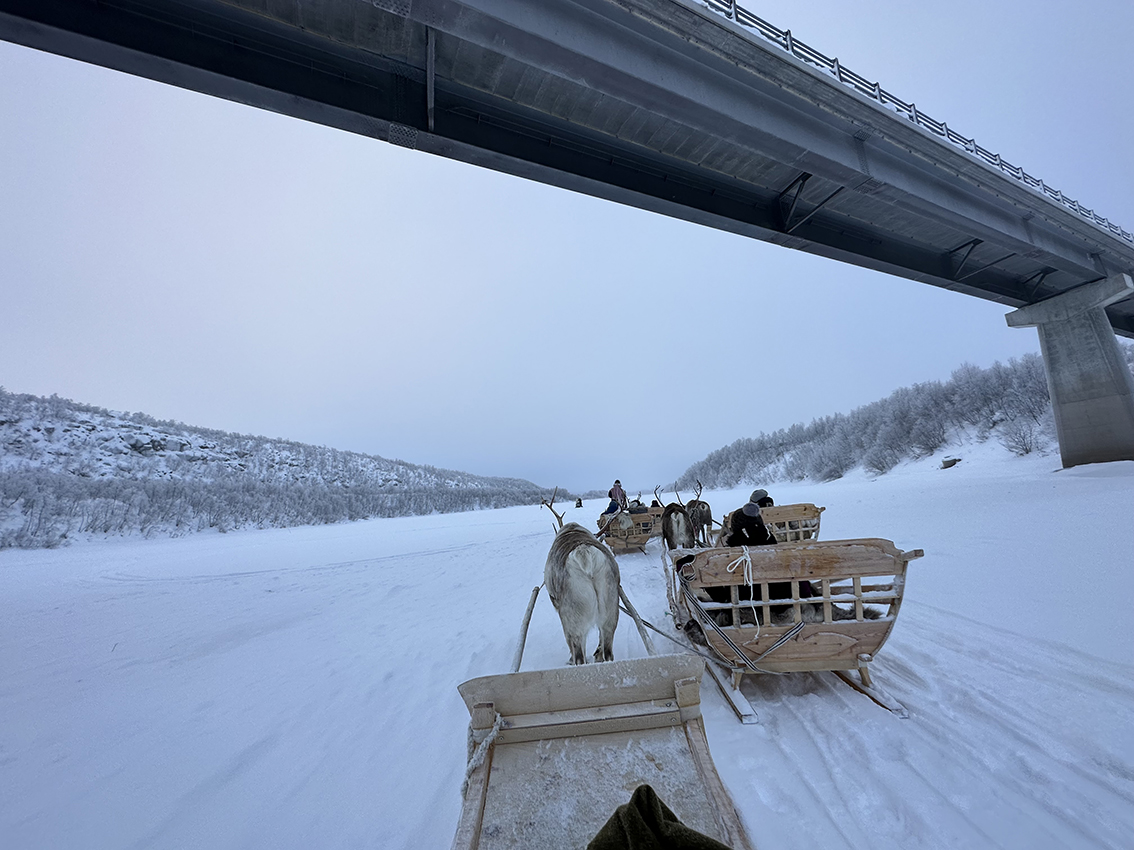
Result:
{"label": "entire grey bridge overhead, including railing, deck and support pillar", "polygon": [[0,37],[1018,308],[1134,459],[1134,235],[735,0],[0,0]]}

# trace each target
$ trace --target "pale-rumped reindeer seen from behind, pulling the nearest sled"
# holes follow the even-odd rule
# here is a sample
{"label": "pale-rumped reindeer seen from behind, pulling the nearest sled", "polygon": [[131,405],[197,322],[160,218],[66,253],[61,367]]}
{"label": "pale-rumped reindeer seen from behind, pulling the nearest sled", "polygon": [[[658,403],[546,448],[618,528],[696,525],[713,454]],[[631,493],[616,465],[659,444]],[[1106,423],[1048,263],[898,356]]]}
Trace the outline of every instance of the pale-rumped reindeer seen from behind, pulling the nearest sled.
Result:
{"label": "pale-rumped reindeer seen from behind, pulling the nearest sled", "polygon": [[556,513],[557,487],[551,501],[540,500],[559,520],[559,530],[543,566],[543,584],[559,612],[572,664],[586,663],[586,636],[599,630],[595,661],[615,660],[615,629],[618,628],[618,562],[599,538],[578,522],[564,524]]}

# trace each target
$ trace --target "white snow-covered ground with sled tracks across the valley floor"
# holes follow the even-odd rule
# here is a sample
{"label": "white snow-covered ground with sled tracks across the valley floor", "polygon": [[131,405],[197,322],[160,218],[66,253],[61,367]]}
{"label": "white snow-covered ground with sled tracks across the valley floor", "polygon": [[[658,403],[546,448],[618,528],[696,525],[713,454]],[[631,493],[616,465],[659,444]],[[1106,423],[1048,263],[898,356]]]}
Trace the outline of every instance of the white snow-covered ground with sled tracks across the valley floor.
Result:
{"label": "white snow-covered ground with sled tracks across the valley floor", "polygon": [[[744,726],[705,680],[761,850],[1132,845],[1134,462],[960,453],[770,487],[925,558],[873,665],[909,720],[804,673],[746,681]],[[0,845],[447,848],[456,687],[507,670],[551,534],[510,508],[0,553]],[[619,563],[661,624],[657,545]],[[543,596],[524,669],[566,655]]]}

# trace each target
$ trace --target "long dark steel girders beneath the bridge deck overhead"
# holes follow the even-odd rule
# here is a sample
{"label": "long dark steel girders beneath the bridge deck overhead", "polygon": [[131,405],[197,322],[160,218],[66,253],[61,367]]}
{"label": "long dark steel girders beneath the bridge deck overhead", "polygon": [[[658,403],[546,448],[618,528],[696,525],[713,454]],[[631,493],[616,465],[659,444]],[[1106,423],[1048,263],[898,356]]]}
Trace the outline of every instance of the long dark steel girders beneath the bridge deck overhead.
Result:
{"label": "long dark steel girders beneath the bridge deck overhead", "polygon": [[[1010,306],[1134,272],[1109,232],[691,0],[0,0],[0,37]],[[471,53],[836,188],[785,219],[770,185],[488,91]],[[955,269],[860,195],[1001,260]],[[1128,303],[1107,315],[1134,335]]]}

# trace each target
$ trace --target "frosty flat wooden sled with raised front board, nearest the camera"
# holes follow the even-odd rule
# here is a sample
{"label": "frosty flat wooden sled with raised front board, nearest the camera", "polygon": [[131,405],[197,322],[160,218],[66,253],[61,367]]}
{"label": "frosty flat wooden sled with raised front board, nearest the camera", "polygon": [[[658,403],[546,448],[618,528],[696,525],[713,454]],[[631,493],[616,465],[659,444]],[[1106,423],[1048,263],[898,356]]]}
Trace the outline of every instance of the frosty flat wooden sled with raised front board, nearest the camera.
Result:
{"label": "frosty flat wooden sled with raised front board, nearest the camera", "polygon": [[663,655],[462,685],[472,740],[498,732],[469,774],[452,850],[583,850],[641,784],[689,827],[751,850],[709,755],[703,670]]}

